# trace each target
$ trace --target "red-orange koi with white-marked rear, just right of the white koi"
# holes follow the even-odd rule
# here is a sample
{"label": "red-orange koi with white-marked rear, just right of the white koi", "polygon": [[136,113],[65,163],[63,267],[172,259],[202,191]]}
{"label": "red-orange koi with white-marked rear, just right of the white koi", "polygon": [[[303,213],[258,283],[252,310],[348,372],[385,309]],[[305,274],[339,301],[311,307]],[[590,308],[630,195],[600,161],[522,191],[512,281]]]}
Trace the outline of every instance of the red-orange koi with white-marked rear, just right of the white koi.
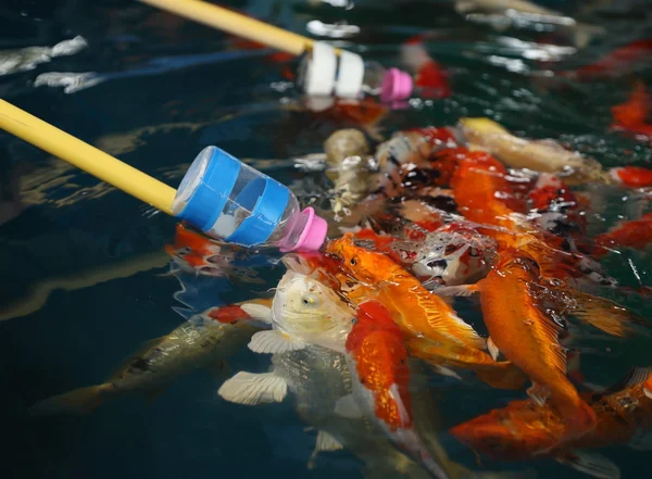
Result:
{"label": "red-orange koi with white-marked rear, just right of the white koi", "polygon": [[[351,399],[377,423],[401,450],[435,477],[448,475],[432,458],[413,427],[410,398],[410,367],[400,328],[377,301],[358,308],[358,322],[347,338],[347,363],[353,378],[353,398],[344,396],[336,412],[351,407]],[[338,407],[339,406],[339,407]]]}

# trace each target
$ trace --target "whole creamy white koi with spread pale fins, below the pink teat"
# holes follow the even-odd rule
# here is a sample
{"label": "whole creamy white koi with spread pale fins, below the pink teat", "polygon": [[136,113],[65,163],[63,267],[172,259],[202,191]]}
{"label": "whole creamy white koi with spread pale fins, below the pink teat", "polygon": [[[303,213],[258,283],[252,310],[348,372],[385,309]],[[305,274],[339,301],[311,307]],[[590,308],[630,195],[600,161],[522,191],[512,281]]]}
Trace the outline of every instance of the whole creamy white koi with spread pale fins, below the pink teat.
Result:
{"label": "whole creamy white koi with spread pale fins, below the pink teat", "polygon": [[218,393],[227,401],[254,405],[283,401],[289,390],[299,415],[318,429],[315,453],[346,446],[371,469],[419,477],[418,467],[391,448],[388,451],[389,442],[379,439],[380,431],[364,417],[337,409],[338,401],[351,398],[352,392],[344,353],[353,317],[352,310],[328,287],[288,270],[274,298],[274,330],[256,333],[250,343],[255,352],[273,353],[273,371],[238,373]]}

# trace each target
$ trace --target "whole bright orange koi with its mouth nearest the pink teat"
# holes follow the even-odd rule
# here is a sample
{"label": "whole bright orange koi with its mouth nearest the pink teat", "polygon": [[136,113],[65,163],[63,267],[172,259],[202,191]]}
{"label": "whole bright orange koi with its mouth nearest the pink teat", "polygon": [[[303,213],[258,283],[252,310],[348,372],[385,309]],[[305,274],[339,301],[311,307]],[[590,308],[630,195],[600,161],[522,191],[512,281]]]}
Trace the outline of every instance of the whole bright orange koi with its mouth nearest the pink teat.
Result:
{"label": "whole bright orange koi with its mouth nearest the pink teat", "polygon": [[[419,280],[383,253],[358,247],[352,234],[330,242],[327,254],[341,260],[344,277],[354,279],[348,299],[362,304],[376,299],[404,335],[411,355],[427,361],[443,375],[464,367],[499,388],[519,388],[523,374],[509,362],[497,363],[485,351],[485,340],[451,306],[425,289]],[[347,280],[342,280],[346,283]]]}

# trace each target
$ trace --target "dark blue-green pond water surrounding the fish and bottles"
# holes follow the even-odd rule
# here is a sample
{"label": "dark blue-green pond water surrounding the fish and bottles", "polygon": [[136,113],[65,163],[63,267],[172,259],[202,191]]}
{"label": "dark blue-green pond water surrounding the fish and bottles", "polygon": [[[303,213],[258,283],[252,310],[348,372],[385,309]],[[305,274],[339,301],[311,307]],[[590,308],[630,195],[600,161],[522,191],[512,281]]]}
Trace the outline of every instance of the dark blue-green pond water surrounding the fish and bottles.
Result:
{"label": "dark blue-green pond water surrounding the fish and bottles", "polygon": [[[647,165],[652,160],[650,148],[607,128],[610,106],[625,100],[634,77],[652,85],[650,59],[635,65],[634,73],[614,72],[613,78],[592,84],[565,83],[546,89],[532,79],[542,70],[574,68],[617,46],[652,37],[650,2],[614,3],[611,9],[591,10],[592,2],[548,2],[570,14],[584,10],[582,20],[606,26],[610,35],[543,65],[536,58],[550,49],[524,42],[548,38],[559,47],[570,47],[567,37],[531,28],[497,33],[464,22],[446,2],[403,1],[390,7],[390,2],[367,1],[351,10],[315,9],[300,1],[229,2],[302,34],[313,20],[346,20],[360,27],[346,45],[388,65],[397,64],[399,46],[408,37],[437,29],[440,37],[428,43],[428,50],[452,72],[454,94],[443,101],[416,102],[390,115],[381,124],[386,135],[400,128],[449,125],[460,116],[491,116],[521,135],[561,138],[607,166]],[[22,54],[10,64],[16,56],[5,51],[52,47],[75,36],[88,45],[71,55],[35,62]],[[263,53],[237,51],[220,33],[136,2],[3,2],[0,48],[0,62],[7,60],[0,63],[3,99],[173,186],[185,171],[179,165],[187,165],[208,144],[242,159],[286,159],[318,152],[330,131],[347,126],[280,108],[281,99],[294,94],[280,91],[278,84],[285,80]],[[52,78],[62,77],[57,74],[65,74],[67,83],[52,85]],[[29,418],[26,408],[35,402],[100,382],[142,342],[184,320],[173,311],[179,306],[174,298],[179,283],[166,275],[168,259],[163,252],[173,240],[175,222],[152,215],[137,200],[4,134],[0,134],[0,161],[3,198],[20,174],[24,205],[11,220],[8,213],[0,225],[3,312],[15,312],[16,303],[34,304],[21,301],[50,278],[88,277],[98,268],[140,265],[139,273],[128,277],[72,291],[54,289],[42,306],[0,322],[0,477],[361,476],[360,464],[344,452],[308,470],[314,434],[304,431],[289,404],[254,408],[227,404],[215,394],[218,380],[204,373],[178,380],[151,405],[139,396],[126,396],[89,416]],[[323,185],[318,175],[302,184],[305,175],[289,162],[269,174],[301,190],[302,198],[313,197]],[[613,224],[618,214],[634,214],[623,201],[611,201],[613,215],[602,224],[594,218],[597,230]],[[627,257],[637,265],[642,283],[652,286],[650,257],[629,253]],[[609,261],[610,272],[635,285],[626,259]],[[205,280],[200,293],[191,295],[192,305],[201,310],[251,298],[274,286],[281,273],[265,269],[261,274],[266,283],[253,287],[237,279]],[[630,305],[649,313],[640,302]],[[460,314],[477,315],[468,307]],[[644,362],[645,345],[636,348],[616,348],[614,354],[589,363],[595,382],[613,382],[631,362]],[[231,367],[262,369],[266,361],[244,351]],[[441,407],[451,423],[447,426],[511,398],[448,381],[442,385]],[[472,452],[451,438],[442,440],[456,461],[478,467]],[[636,477],[651,465],[647,452],[616,448],[606,453],[620,466],[623,477]],[[552,462],[505,467],[522,466],[534,466],[542,478],[584,477]]]}

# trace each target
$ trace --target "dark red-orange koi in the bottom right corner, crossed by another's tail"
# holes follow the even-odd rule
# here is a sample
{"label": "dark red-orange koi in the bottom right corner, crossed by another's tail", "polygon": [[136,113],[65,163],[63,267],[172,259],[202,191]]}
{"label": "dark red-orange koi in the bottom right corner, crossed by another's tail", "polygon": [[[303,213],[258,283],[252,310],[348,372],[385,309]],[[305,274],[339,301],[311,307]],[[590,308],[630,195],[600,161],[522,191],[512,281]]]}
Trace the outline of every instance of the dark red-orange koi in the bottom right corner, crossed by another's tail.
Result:
{"label": "dark red-orange koi in the bottom right corner, crossed by another's tail", "polygon": [[[555,445],[564,433],[565,418],[553,405],[538,405],[532,400],[512,401],[506,407],[455,426],[450,432],[460,442],[493,459],[554,458],[599,478],[616,478],[619,471],[611,461],[578,450],[617,444],[649,449],[644,441],[649,442],[652,428],[650,386],[649,369],[635,369],[619,387],[582,394],[595,414],[595,429],[561,448]],[[549,451],[539,454],[546,450]]]}

